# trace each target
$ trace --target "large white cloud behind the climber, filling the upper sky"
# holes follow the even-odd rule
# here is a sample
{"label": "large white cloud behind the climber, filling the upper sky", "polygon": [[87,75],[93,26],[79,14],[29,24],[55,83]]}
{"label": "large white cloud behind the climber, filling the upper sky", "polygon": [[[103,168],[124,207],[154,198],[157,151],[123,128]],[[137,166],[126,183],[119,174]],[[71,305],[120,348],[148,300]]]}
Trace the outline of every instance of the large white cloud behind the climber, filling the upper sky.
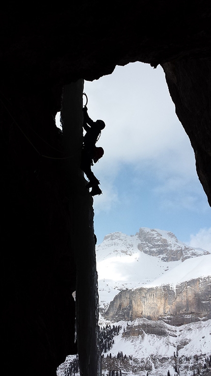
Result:
{"label": "large white cloud behind the climber, filling the upper sky", "polygon": [[[181,165],[186,174],[194,167],[193,151],[170,98],[162,68],[131,63],[112,75],[85,82],[88,113],[106,128],[98,141],[105,150],[101,166],[115,163],[157,162],[162,170]],[[193,164],[193,169],[189,168]],[[185,167],[186,166],[186,167]],[[177,167],[179,169],[179,167]]]}

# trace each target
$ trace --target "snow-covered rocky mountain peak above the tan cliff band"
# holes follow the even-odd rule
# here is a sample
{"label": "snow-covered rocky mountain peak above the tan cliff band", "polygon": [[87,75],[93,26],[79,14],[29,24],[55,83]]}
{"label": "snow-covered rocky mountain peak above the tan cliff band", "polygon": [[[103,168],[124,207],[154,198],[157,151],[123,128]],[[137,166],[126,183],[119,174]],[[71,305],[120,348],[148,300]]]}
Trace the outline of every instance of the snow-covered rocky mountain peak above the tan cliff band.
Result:
{"label": "snow-covered rocky mountain peak above the tan cliff band", "polygon": [[169,231],[147,227],[132,236],[106,235],[96,246],[96,259],[100,306],[104,308],[121,290],[172,283],[173,275],[176,285],[185,278],[210,275],[211,268],[208,251],[188,247]]}

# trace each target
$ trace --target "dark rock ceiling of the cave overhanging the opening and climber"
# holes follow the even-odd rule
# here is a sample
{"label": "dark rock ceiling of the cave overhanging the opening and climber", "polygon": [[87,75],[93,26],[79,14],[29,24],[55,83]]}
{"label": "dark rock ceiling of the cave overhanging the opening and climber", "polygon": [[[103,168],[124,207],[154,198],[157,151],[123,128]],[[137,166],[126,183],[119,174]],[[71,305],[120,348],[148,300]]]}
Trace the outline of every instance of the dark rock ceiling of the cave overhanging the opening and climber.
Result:
{"label": "dark rock ceiling of the cave overhanging the opening and climber", "polygon": [[156,67],[211,56],[208,1],[7,2],[3,8],[0,61],[11,82],[57,86],[136,61]]}

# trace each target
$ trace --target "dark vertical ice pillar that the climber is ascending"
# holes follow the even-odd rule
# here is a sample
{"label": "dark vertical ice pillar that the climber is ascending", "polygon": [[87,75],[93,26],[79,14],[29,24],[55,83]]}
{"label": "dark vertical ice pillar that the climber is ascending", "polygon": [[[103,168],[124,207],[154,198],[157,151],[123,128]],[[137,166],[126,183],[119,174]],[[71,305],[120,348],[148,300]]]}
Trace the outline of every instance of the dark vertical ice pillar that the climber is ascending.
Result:
{"label": "dark vertical ice pillar that the climber is ascending", "polygon": [[75,352],[79,353],[80,373],[85,376],[101,373],[101,351],[98,344],[98,281],[93,198],[85,188],[87,182],[80,170],[82,93],[83,80],[64,86],[61,123],[64,151],[68,156],[64,159],[64,170],[69,187],[67,204],[72,222],[70,235],[76,266]]}

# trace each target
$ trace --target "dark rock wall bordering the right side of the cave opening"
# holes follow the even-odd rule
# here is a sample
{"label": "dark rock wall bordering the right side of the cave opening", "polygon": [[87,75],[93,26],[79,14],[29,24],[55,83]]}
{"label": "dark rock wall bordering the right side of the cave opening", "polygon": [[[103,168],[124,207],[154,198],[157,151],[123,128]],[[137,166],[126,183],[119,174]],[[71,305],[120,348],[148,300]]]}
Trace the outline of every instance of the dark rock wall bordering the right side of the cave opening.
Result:
{"label": "dark rock wall bordering the right side of the cave opening", "polygon": [[[164,63],[162,66],[176,114],[194,150],[199,180],[211,206],[211,59],[185,59]],[[200,109],[198,98],[201,102]]]}

